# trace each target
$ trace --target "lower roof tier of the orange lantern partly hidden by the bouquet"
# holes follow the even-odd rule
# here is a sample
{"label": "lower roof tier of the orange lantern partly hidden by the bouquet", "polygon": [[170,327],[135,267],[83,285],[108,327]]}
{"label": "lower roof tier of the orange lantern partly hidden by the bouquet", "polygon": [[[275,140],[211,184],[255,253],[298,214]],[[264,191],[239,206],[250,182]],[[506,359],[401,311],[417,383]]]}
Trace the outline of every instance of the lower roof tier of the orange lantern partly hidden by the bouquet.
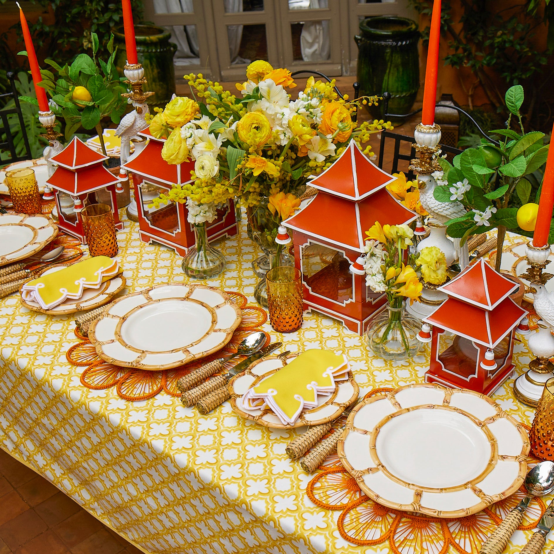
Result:
{"label": "lower roof tier of the orange lantern partly hidden by the bouquet", "polygon": [[170,185],[191,182],[191,171],[194,169],[194,162],[184,162],[178,165],[167,163],[162,158],[162,148],[163,141],[150,140],[144,150],[123,167],[142,175],[142,177],[156,179]]}

